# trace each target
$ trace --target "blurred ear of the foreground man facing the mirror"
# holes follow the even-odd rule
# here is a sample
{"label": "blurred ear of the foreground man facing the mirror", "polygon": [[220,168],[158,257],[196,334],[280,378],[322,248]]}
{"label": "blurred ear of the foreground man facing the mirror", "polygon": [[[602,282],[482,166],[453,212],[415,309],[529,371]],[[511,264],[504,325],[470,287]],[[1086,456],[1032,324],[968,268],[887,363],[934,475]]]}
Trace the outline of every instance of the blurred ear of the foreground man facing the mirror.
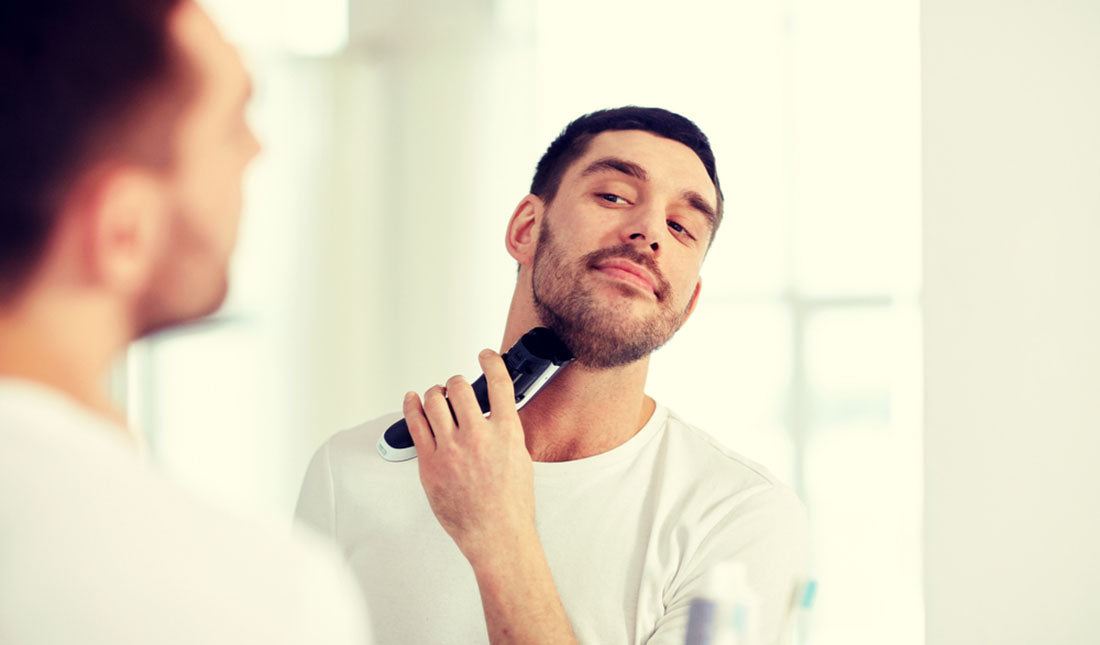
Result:
{"label": "blurred ear of the foreground man facing the mirror", "polygon": [[143,288],[166,241],[170,208],[164,181],[139,166],[112,168],[84,210],[92,280],[118,293]]}

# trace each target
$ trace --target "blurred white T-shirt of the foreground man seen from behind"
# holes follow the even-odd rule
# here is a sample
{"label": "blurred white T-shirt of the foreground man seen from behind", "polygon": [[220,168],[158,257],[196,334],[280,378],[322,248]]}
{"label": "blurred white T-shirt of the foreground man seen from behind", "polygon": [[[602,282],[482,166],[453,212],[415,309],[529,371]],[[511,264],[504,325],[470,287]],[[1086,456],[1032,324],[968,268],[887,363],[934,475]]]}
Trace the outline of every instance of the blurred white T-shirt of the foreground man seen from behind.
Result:
{"label": "blurred white T-shirt of the foreground man seen from behind", "polygon": [[370,642],[334,549],[191,499],[124,431],[0,379],[0,643]]}

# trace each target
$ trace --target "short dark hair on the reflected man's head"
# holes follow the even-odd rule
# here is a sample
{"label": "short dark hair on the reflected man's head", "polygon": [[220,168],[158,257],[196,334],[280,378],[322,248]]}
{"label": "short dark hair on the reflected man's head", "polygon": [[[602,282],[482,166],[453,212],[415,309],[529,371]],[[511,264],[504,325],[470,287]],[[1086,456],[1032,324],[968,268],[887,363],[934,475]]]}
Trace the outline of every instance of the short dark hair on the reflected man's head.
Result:
{"label": "short dark hair on the reflected man's head", "polygon": [[714,190],[718,196],[718,203],[715,205],[717,217],[714,220],[714,231],[718,230],[718,225],[722,222],[723,196],[711,143],[706,134],[703,134],[690,119],[661,108],[625,106],[591,112],[575,119],[565,125],[539,160],[535,178],[531,179],[531,194],[539,196],[546,203],[552,201],[569,166],[584,154],[588,142],[596,134],[608,130],[644,130],[679,141],[690,147],[698,156],[698,161],[703,162],[706,174],[714,183]]}

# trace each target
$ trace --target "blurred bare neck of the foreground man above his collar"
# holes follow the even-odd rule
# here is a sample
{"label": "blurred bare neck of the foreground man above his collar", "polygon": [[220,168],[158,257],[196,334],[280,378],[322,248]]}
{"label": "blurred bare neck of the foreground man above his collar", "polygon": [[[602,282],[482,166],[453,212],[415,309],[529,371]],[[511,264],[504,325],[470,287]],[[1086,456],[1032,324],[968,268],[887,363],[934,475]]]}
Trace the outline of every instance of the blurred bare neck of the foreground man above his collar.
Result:
{"label": "blurred bare neck of the foreground man above his collar", "polygon": [[59,390],[124,428],[106,391],[111,360],[129,340],[117,314],[92,296],[56,292],[0,308],[0,375]]}

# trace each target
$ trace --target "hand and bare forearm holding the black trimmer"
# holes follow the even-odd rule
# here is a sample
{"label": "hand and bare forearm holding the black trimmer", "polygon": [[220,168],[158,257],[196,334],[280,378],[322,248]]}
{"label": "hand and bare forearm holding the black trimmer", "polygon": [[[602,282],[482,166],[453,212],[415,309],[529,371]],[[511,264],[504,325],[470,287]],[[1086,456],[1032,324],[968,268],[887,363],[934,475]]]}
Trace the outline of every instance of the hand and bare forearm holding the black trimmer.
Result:
{"label": "hand and bare forearm holding the black trimmer", "polygon": [[477,359],[488,417],[461,376],[447,382],[447,397],[438,385],[425,392],[422,405],[416,393],[405,395],[420,483],[473,566],[490,643],[576,643],[535,529],[535,467],[512,378],[495,351]]}

